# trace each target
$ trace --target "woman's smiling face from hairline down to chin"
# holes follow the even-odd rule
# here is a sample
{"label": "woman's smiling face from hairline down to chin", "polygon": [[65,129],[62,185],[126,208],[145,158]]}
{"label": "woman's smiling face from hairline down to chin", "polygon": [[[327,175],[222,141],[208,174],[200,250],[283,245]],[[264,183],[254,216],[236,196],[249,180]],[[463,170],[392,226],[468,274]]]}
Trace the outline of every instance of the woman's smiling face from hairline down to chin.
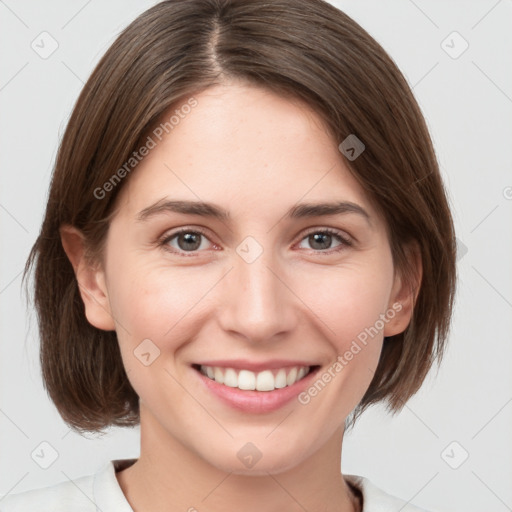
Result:
{"label": "woman's smiling face from hairline down to chin", "polygon": [[226,471],[284,471],[341,442],[408,324],[402,285],[314,112],[241,84],[195,99],[123,184],[87,315],[117,332],[142,430]]}

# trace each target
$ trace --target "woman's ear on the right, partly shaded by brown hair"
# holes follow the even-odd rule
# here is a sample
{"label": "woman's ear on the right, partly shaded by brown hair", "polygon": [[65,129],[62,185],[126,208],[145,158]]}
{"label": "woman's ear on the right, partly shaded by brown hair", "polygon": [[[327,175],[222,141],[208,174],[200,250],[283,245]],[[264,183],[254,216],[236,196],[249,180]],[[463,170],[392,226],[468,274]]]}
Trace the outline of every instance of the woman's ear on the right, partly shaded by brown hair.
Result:
{"label": "woman's ear on the right, partly shaded by brown hair", "polygon": [[394,311],[395,315],[386,323],[384,336],[394,336],[404,332],[414,313],[423,277],[421,252],[416,242],[406,247],[406,257],[412,265],[411,276],[405,279],[401,269],[395,271],[388,304],[388,311]]}

